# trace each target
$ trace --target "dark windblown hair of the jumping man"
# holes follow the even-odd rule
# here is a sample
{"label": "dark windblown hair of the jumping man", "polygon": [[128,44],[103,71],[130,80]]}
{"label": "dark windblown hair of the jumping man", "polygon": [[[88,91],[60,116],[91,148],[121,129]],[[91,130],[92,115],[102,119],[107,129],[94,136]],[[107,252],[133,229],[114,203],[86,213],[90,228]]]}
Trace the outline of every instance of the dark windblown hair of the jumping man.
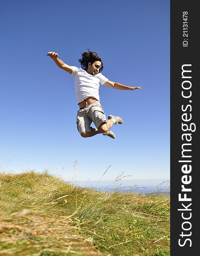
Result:
{"label": "dark windblown hair of the jumping man", "polygon": [[[93,64],[95,61],[101,61],[99,55],[96,52],[90,51],[90,49],[87,49],[87,52],[83,52],[81,53],[81,55],[82,58],[78,61],[81,63],[81,67],[84,70],[87,70],[89,62]],[[103,70],[103,68],[103,62],[101,61],[101,68],[99,70],[99,73]]]}

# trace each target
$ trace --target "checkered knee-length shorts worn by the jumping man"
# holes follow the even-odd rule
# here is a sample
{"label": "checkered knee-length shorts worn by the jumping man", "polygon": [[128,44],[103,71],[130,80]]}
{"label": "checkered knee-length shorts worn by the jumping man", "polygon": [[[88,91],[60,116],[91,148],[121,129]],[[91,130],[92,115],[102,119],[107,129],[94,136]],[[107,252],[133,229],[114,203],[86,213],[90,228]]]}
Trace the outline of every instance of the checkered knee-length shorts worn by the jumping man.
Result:
{"label": "checkered knee-length shorts worn by the jumping man", "polygon": [[76,124],[79,133],[91,131],[91,123],[98,128],[102,122],[106,122],[106,115],[99,101],[77,111]]}

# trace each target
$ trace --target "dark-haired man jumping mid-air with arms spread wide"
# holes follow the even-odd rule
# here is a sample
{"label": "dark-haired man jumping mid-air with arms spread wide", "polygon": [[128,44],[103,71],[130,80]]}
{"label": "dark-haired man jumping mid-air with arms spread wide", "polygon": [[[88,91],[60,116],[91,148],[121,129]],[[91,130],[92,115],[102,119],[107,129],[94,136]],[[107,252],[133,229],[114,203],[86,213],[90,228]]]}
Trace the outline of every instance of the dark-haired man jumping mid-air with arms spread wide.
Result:
{"label": "dark-haired man jumping mid-air with arms spread wide", "polygon": [[[109,115],[106,119],[99,102],[100,84],[118,90],[136,90],[142,89],[142,86],[130,87],[108,80],[101,74],[103,62],[96,52],[88,49],[87,52],[83,52],[81,55],[82,58],[78,60],[81,63],[81,68],[78,68],[65,64],[58,58],[58,53],[48,52],[47,54],[58,67],[70,73],[74,78],[76,100],[80,108],[77,112],[76,123],[81,136],[86,138],[103,134],[115,139],[115,134],[110,131],[110,128],[113,124],[122,124],[123,120],[119,116],[112,115]],[[96,128],[90,127],[92,122]]]}

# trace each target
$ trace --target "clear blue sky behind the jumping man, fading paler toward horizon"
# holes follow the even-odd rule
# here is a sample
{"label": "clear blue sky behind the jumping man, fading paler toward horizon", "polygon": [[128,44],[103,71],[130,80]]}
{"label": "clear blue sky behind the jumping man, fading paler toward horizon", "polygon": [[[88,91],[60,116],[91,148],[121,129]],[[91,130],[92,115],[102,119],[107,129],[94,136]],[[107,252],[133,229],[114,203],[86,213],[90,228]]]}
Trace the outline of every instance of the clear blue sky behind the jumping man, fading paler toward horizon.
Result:
{"label": "clear blue sky behind the jumping man, fading paler toward horizon", "polygon": [[[34,169],[77,180],[170,176],[170,1],[2,1],[0,170]],[[111,130],[82,138],[73,78],[47,52],[79,67],[98,52],[102,74],[142,90],[100,87]]]}

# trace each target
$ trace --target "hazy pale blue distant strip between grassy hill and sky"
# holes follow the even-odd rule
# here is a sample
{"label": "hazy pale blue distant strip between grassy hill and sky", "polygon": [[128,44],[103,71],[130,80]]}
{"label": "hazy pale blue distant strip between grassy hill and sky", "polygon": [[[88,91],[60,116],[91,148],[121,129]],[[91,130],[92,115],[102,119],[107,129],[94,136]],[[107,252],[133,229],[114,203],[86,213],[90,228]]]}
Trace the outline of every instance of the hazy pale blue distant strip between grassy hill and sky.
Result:
{"label": "hazy pale blue distant strip between grassy hill and sky", "polygon": [[165,193],[170,195],[170,179],[149,180],[73,180],[73,185],[104,192],[133,192],[139,194]]}

